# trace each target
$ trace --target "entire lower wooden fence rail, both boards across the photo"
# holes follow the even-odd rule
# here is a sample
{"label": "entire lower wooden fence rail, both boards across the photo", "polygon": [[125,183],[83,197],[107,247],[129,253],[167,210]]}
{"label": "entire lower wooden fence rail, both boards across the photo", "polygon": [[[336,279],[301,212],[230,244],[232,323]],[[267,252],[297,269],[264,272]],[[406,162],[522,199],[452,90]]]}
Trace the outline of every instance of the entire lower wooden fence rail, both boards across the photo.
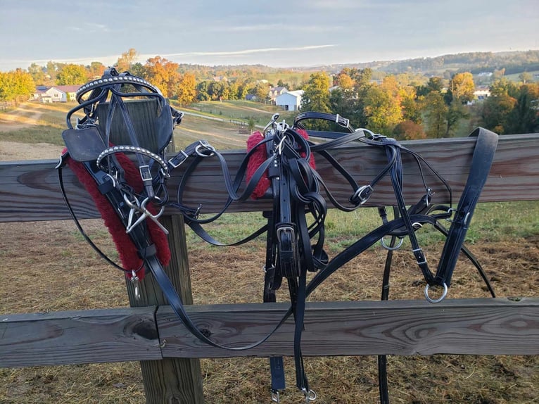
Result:
{"label": "entire lower wooden fence rail, both boards across the photo", "polygon": [[[186,306],[198,327],[227,346],[258,341],[286,308],[286,303]],[[0,315],[0,367],[293,355],[291,319],[260,346],[229,351],[198,341],[169,306],[158,308],[156,317],[153,310]],[[307,356],[538,355],[539,298],[307,303],[302,351]]]}

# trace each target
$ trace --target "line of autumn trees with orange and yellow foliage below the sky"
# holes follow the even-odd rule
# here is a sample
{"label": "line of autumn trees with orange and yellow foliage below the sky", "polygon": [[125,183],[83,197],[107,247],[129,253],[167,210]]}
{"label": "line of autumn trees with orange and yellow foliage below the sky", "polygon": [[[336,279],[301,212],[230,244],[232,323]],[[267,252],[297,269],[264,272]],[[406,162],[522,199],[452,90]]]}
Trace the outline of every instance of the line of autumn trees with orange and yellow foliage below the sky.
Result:
{"label": "line of autumn trees with orange and yellow foliage below the sky", "polygon": [[[144,65],[136,59],[137,51],[129,49],[115,67],[143,77],[183,106],[196,101],[245,99],[247,94],[265,100],[274,84],[288,90],[303,89],[303,111],[338,113],[350,119],[354,127],[367,127],[398,139],[451,137],[462,120],[500,134],[539,132],[539,84],[531,82],[528,72],[521,74],[520,83],[514,83],[504,77],[503,69],[495,70],[491,95],[471,105],[475,90],[471,72],[427,79],[380,75],[371,68],[343,68],[335,75],[313,72],[305,82],[288,84],[257,80],[253,67],[230,70],[228,77],[201,79],[185,65],[160,56],[149,58]],[[49,62],[44,67],[32,64],[27,71],[0,72],[0,99],[30,96],[37,84],[83,84],[100,77],[105,69],[99,62],[87,66]],[[208,74],[205,71],[205,77]],[[326,129],[329,124],[317,125],[317,129]]]}

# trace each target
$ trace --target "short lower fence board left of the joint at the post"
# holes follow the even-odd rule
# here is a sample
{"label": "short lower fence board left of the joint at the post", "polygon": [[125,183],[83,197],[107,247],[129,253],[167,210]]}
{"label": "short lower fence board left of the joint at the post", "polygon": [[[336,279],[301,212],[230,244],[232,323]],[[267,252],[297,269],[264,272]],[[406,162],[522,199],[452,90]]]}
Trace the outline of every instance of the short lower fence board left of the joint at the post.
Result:
{"label": "short lower fence board left of the joint at the post", "polygon": [[0,315],[0,367],[161,359],[155,311]]}

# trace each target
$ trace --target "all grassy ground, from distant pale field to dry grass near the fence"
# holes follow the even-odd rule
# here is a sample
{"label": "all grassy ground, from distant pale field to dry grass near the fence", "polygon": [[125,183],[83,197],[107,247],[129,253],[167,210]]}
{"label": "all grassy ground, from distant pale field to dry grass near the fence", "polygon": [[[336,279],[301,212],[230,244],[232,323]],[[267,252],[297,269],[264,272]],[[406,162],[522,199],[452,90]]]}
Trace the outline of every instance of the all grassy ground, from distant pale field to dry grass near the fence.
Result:
{"label": "all grassy ground, from distant pale field to dry grass near the fence", "polygon": [[[208,139],[220,149],[243,149],[246,135],[226,122],[226,114],[256,113],[260,120],[271,116],[272,111],[256,105],[262,111],[247,109],[243,103],[195,106],[200,108],[198,112],[209,114],[211,110],[213,118],[224,121],[186,115],[175,130],[175,143],[181,147]],[[56,154],[44,153],[42,144],[62,145],[63,121],[72,105],[23,107],[0,113],[0,145],[3,141],[16,141],[28,158],[56,158]],[[208,111],[201,111],[205,108]],[[232,240],[261,223],[259,213],[228,214],[210,230],[217,237]],[[115,256],[101,220],[84,220],[83,225],[106,253]],[[327,252],[335,255],[377,225],[376,209],[364,208],[353,213],[330,210],[326,219]],[[4,264],[0,313],[129,305],[122,274],[85,244],[72,222],[2,223],[0,234],[0,258]],[[420,237],[429,260],[436,262],[442,245],[439,234],[422,229]],[[497,296],[539,295],[539,203],[482,203],[476,209],[467,238]],[[196,304],[261,301],[263,240],[243,247],[217,248],[209,247],[188,231],[187,242]],[[336,272],[310,300],[378,300],[384,259],[382,248],[370,248]],[[413,265],[406,245],[395,253],[394,262],[391,298],[421,299],[421,273]],[[226,279],[234,279],[234,293],[224,284]],[[279,301],[286,301],[286,294],[285,290],[280,291]],[[459,260],[450,297],[488,297],[467,260]],[[315,403],[370,404],[378,400],[376,358],[372,356],[305,358],[305,365],[312,388],[319,396]],[[291,358],[286,358],[285,366],[288,389],[281,396],[281,403],[298,403],[302,397],[293,386]],[[205,359],[201,360],[201,367],[208,404],[271,402],[267,360]],[[533,355],[390,356],[388,372],[391,403],[539,403],[539,358]],[[139,364],[127,362],[0,369],[0,403],[142,404],[145,398]]]}

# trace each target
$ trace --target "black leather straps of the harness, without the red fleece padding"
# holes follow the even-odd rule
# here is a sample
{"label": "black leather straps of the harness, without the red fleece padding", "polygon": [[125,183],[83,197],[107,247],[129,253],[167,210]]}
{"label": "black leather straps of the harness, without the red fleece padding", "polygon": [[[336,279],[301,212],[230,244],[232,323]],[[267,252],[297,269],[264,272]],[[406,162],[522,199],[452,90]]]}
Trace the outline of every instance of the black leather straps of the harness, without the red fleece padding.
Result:
{"label": "black leather straps of the harness, without the red fleece padding", "polygon": [[[113,74],[110,78],[114,79],[114,77],[120,76]],[[126,77],[120,77],[116,82],[111,82],[113,87],[107,87],[108,91],[118,96],[125,95],[119,89],[124,82],[129,80]],[[135,88],[137,89],[146,87],[144,83],[136,83]],[[107,97],[102,86],[96,85],[96,87],[91,89],[92,95],[90,96],[90,99],[93,99],[94,103],[96,99],[103,101]],[[142,94],[142,91],[140,94]],[[79,122],[77,127],[72,127],[68,123],[70,129],[65,132],[64,136],[68,146],[68,152],[75,159],[82,161],[84,168],[96,182],[101,194],[106,196],[110,205],[115,208],[115,212],[129,232],[130,239],[132,239],[137,251],[139,251],[139,256],[144,262],[144,268],[147,272],[153,274],[153,277],[158,282],[172,310],[179,317],[179,320],[182,321],[185,327],[196,338],[204,343],[231,351],[239,351],[250,349],[263,343],[275,330],[284,324],[288,317],[293,316],[295,321],[294,357],[296,362],[296,386],[300,391],[303,391],[307,402],[314,400],[316,394],[310,389],[305,375],[301,353],[305,301],[310,293],[322,284],[325,279],[373,244],[383,240],[386,236],[391,236],[390,244],[386,245],[386,248],[388,248],[388,258],[386,260],[382,289],[382,299],[388,298],[388,277],[393,249],[395,249],[395,243],[398,239],[407,236],[412,246],[412,254],[426,281],[426,299],[432,303],[437,303],[443,300],[447,294],[459,253],[464,251],[472,259],[472,262],[474,262],[474,258],[463,247],[463,243],[471,216],[474,213],[481,189],[486,182],[486,177],[495,153],[497,135],[493,132],[479,128],[472,134],[477,138],[474,156],[466,187],[464,187],[456,209],[448,206],[433,205],[431,203],[431,189],[427,184],[425,184],[423,198],[412,206],[407,207],[407,203],[402,196],[402,187],[404,186],[402,182],[402,153],[407,153],[414,157],[421,173],[424,169],[431,170],[439,181],[445,185],[449,193],[450,187],[417,153],[402,146],[395,139],[373,134],[368,130],[353,130],[348,120],[345,120],[345,118],[339,115],[302,113],[298,115],[291,127],[286,125],[284,121],[277,122],[278,115],[275,115],[272,122],[267,125],[260,137],[259,146],[265,148],[267,158],[260,164],[251,180],[247,184],[244,184],[246,168],[248,167],[251,156],[255,153],[255,149],[246,153],[246,157],[243,159],[239,170],[232,176],[223,156],[205,141],[197,141],[191,144],[184,151],[180,151],[168,160],[165,159],[164,147],[151,151],[139,146],[137,140],[134,138],[134,144],[132,145],[110,146],[110,126],[106,126],[103,130],[95,121],[92,121],[93,111],[91,105],[94,104],[89,101],[80,101],[82,106],[80,108],[84,108],[87,115],[84,121]],[[111,111],[109,118],[112,118],[113,111],[117,110],[128,121],[127,110],[124,103],[120,102],[120,99],[110,101],[109,108]],[[161,123],[159,125],[165,128],[164,131],[168,133],[173,123],[179,122],[179,118],[181,117],[171,108],[164,108],[163,111],[165,111],[165,118],[160,118],[159,122]],[[68,122],[70,121],[69,117],[70,115],[68,116]],[[307,131],[311,137],[322,136],[326,139],[322,143],[312,143],[312,141],[307,141],[298,132],[304,129],[303,120],[307,119],[322,119],[336,122],[338,125],[347,128],[348,133]],[[167,122],[170,121],[170,126],[165,124],[165,120]],[[127,130],[129,134],[132,134],[133,130],[128,124]],[[369,184],[357,184],[353,175],[331,156],[331,149],[348,144],[351,141],[360,141],[363,144],[383,149],[386,153],[386,166]],[[114,149],[114,147],[117,147],[117,149]],[[140,193],[133,193],[129,189],[129,184],[125,184],[122,181],[122,166],[115,158],[116,153],[134,153],[137,156],[139,172],[144,184],[144,190]],[[316,153],[320,158],[325,158],[343,175],[345,181],[350,184],[350,198],[347,203],[337,201],[328,187],[326,187],[326,184],[324,184],[319,173],[312,168],[309,163],[311,153]],[[228,199],[220,213],[203,219],[199,216],[201,206],[185,206],[183,203],[183,194],[185,184],[189,180],[191,172],[196,170],[196,167],[207,158],[217,158],[220,161]],[[190,160],[191,163],[189,163],[189,167],[186,169],[179,184],[177,200],[170,201],[166,191],[166,179],[170,176],[172,170],[187,160]],[[61,184],[63,182],[61,169],[64,163],[65,156],[61,160],[61,164],[58,165]],[[201,236],[201,238],[209,243],[224,246],[227,244],[223,244],[210,236],[203,228],[203,225],[217,220],[233,201],[245,201],[249,198],[253,193],[253,189],[255,189],[264,175],[267,175],[271,182],[271,187],[266,197],[272,198],[272,210],[263,213],[267,218],[267,225],[258,229],[258,231],[246,239],[237,241],[234,245],[250,241],[260,234],[267,234],[263,300],[265,302],[276,301],[276,291],[280,288],[283,278],[286,278],[291,306],[284,317],[275,324],[273,331],[260,341],[241,347],[223,346],[210,339],[206,332],[199,329],[184,310],[182,299],[179,297],[170,279],[168,279],[167,274],[165,274],[163,265],[156,258],[156,248],[148,237],[146,219],[157,222],[159,215],[149,213],[148,209],[146,209],[146,203],[153,203],[158,206],[160,213],[163,212],[165,206],[181,210],[186,224],[194,229],[194,232]],[[321,194],[322,189],[324,189],[327,199],[334,207],[345,211],[355,210],[369,199],[369,196],[376,191],[376,184],[386,176],[391,179],[391,184],[393,184],[395,194],[395,207],[393,211],[395,217],[393,220],[388,220],[386,209],[383,207],[379,208],[382,225],[362,236],[361,239],[355,241],[355,243],[345,248],[330,260],[324,251],[324,219],[326,217],[327,206],[326,199]],[[62,191],[65,196],[63,184]],[[73,218],[77,221],[67,196],[65,196],[65,201]],[[451,220],[449,230],[440,225],[439,220],[443,219]],[[419,246],[415,235],[417,229],[426,224],[433,225],[447,236],[435,273],[429,269],[423,250]],[[106,256],[101,252],[100,254]],[[138,279],[134,268],[116,266],[127,272],[127,274],[132,274],[132,279]],[[479,272],[481,272],[483,279],[486,280],[483,270],[478,263],[476,266]],[[137,272],[139,270],[140,268],[137,269]],[[308,283],[307,272],[316,273]],[[488,284],[487,280],[486,282]],[[443,288],[443,294],[440,298],[435,299],[429,296],[429,288],[433,286],[441,286]],[[491,290],[490,285],[488,287]],[[279,391],[284,389],[284,365],[282,358],[270,358],[270,367],[272,370],[272,399],[278,402]],[[381,402],[387,403],[388,394],[384,356],[379,357],[379,370],[379,374],[381,375]]]}

